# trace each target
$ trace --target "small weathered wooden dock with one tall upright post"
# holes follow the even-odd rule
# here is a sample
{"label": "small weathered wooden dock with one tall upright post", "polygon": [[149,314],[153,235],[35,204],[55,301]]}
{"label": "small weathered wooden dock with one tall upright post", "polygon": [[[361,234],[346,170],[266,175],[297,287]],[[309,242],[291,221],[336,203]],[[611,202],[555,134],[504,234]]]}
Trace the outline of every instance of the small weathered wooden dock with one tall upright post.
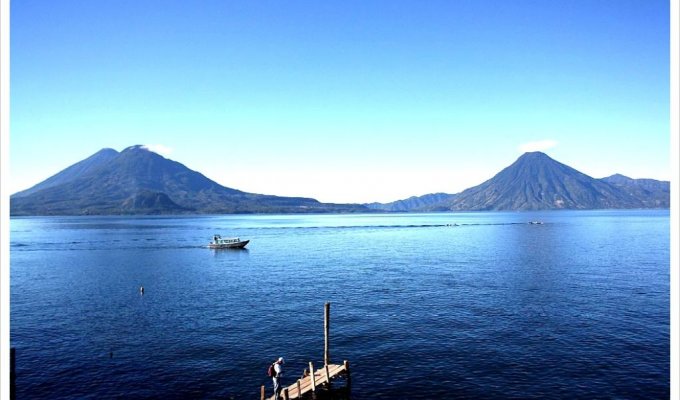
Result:
{"label": "small weathered wooden dock with one tall upright post", "polygon": [[[301,399],[305,394],[312,393],[314,397],[317,389],[319,387],[324,387],[324,389],[331,388],[331,382],[333,379],[344,376],[347,382],[347,388],[351,387],[351,376],[349,370],[349,361],[344,361],[342,364],[331,364],[330,362],[330,313],[331,313],[331,303],[326,303],[324,305],[324,366],[320,369],[315,370],[312,362],[309,362],[309,370],[306,371],[308,374],[297,380],[297,382],[285,387],[281,390],[281,396],[279,398],[284,400],[290,399]],[[266,397],[265,386],[262,385],[260,388],[260,400],[278,400],[276,395]]]}

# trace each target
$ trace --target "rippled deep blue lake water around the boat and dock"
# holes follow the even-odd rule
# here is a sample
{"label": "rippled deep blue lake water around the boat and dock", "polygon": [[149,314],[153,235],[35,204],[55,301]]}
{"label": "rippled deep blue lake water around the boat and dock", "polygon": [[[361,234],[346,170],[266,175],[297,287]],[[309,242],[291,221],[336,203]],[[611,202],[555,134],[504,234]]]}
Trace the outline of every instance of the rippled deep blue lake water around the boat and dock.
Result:
{"label": "rippled deep blue lake water around the boat and dock", "polygon": [[10,228],[18,398],[258,398],[275,357],[284,383],[322,364],[327,301],[352,399],[669,395],[668,211]]}

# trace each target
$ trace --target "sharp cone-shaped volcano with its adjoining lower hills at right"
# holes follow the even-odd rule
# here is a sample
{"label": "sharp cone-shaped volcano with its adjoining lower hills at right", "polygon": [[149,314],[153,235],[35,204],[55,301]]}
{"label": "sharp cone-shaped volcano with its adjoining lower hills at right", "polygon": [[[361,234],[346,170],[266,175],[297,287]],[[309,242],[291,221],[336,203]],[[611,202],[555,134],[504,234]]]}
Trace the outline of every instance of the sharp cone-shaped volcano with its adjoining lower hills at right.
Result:
{"label": "sharp cone-shaped volcano with its adjoining lower hills at right", "polygon": [[486,182],[454,195],[367,204],[386,211],[668,208],[670,183],[623,175],[594,179],[540,152],[525,153]]}

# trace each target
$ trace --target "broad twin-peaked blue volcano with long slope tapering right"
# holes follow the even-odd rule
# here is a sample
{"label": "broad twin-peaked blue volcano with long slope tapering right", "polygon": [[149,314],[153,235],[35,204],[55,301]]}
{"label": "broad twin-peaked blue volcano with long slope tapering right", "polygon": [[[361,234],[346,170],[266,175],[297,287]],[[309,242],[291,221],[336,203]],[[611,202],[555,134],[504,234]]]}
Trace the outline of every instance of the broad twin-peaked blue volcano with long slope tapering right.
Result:
{"label": "broad twin-peaked blue volcano with long slope tapering right", "polygon": [[368,209],[228,188],[143,146],[101,150],[10,198],[11,215],[362,211]]}

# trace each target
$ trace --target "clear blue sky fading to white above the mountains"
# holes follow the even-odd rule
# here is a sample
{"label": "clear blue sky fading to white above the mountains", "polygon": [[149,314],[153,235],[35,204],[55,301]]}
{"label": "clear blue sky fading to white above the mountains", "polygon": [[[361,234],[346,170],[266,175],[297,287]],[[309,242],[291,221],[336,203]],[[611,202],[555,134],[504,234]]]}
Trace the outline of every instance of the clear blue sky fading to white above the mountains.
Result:
{"label": "clear blue sky fading to white above the mountains", "polygon": [[134,144],[327,202],[456,193],[532,149],[671,175],[667,1],[24,0],[10,18],[12,192]]}

